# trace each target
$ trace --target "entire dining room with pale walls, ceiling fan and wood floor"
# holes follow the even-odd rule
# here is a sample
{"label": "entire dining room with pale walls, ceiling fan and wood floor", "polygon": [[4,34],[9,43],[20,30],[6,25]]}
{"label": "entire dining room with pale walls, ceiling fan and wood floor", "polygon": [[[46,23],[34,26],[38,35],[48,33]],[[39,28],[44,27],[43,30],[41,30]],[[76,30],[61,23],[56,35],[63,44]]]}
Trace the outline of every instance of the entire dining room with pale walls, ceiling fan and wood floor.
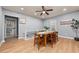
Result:
{"label": "entire dining room with pale walls, ceiling fan and wood floor", "polygon": [[79,6],[0,6],[0,53],[79,53]]}

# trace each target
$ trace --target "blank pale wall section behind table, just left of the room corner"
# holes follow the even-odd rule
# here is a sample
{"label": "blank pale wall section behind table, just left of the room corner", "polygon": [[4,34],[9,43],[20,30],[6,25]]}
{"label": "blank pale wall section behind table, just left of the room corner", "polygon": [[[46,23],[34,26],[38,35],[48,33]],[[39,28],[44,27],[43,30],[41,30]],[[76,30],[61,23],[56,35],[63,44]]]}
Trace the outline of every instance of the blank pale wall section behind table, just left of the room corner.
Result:
{"label": "blank pale wall section behind table, just left of the room corner", "polygon": [[26,17],[26,28],[29,31],[38,31],[43,28],[42,20],[37,20],[33,17]]}

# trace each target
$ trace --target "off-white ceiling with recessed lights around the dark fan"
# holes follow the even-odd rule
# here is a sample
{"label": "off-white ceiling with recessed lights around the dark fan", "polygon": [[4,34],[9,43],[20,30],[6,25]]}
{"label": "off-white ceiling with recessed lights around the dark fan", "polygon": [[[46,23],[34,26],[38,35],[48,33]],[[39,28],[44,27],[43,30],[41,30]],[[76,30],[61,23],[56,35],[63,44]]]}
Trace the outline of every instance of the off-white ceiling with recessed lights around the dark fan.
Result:
{"label": "off-white ceiling with recessed lights around the dark fan", "polygon": [[[40,12],[36,13],[35,11],[42,10],[41,6],[3,6],[3,8],[40,19],[48,19],[57,15],[79,10],[79,6],[45,6],[46,9],[53,9],[53,11],[48,12],[50,15],[43,14],[40,16]],[[24,8],[24,10],[21,10],[21,8]],[[63,11],[64,8],[67,10]]]}

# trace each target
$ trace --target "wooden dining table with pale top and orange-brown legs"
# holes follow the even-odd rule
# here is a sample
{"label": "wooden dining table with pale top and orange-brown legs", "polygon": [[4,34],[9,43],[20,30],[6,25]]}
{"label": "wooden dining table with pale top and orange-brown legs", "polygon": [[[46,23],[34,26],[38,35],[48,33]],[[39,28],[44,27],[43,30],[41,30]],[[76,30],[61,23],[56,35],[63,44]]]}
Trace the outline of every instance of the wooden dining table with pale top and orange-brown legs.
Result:
{"label": "wooden dining table with pale top and orange-brown legs", "polygon": [[[45,32],[37,32],[36,34],[38,35],[38,42],[40,42],[41,41],[41,36],[43,35],[43,39],[44,39],[44,46],[46,47],[47,46],[47,40],[48,40],[48,35],[50,35],[50,38],[51,39],[55,39],[55,41],[56,41],[56,36],[54,36],[54,38],[52,38],[52,34],[53,33],[57,33],[57,35],[58,35],[58,32],[57,31],[45,31]],[[53,43],[53,42],[52,42]],[[52,47],[53,47],[53,44],[51,45]],[[40,48],[40,44],[38,43],[38,49]]]}

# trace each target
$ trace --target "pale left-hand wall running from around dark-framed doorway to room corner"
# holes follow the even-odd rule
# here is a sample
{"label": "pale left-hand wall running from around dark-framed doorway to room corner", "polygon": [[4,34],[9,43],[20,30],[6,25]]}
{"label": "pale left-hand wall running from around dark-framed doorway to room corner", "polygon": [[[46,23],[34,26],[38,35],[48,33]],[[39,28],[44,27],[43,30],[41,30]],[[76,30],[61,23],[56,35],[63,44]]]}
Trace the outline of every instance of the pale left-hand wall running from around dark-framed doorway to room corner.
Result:
{"label": "pale left-hand wall running from around dark-framed doorway to room corner", "polygon": [[[14,16],[19,18],[19,38],[26,38],[27,32],[40,30],[43,27],[42,20],[37,18],[11,12],[8,10],[3,10],[3,16],[4,15]],[[22,24],[23,20],[25,21],[24,24]]]}

